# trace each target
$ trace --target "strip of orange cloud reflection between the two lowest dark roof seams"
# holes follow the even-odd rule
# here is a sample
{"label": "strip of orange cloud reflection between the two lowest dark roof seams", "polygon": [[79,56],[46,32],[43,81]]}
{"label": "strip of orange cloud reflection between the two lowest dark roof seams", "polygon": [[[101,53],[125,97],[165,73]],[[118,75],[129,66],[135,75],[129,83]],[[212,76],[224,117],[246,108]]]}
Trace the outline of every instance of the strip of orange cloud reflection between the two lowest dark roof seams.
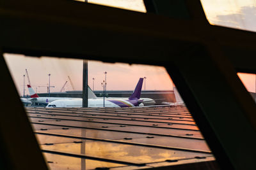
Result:
{"label": "strip of orange cloud reflection between the two lowest dark roof seams", "polygon": [[[61,138],[60,138],[61,141]],[[85,148],[80,143],[60,143],[56,145],[41,145],[44,150],[54,150],[68,153],[83,153],[87,156],[132,162],[135,164],[161,162],[166,159],[191,159],[195,156],[209,157],[211,153],[196,153],[182,150],[166,150],[162,148],[125,145],[102,141],[85,141]]]}

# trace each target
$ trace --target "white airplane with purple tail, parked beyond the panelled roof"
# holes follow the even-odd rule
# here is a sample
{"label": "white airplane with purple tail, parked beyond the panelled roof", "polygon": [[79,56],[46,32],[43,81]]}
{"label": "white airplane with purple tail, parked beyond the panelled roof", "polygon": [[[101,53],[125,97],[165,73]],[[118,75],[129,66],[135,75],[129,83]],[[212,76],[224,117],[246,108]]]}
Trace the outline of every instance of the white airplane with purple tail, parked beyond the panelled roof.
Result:
{"label": "white airplane with purple tail, parked beyond the panelled roof", "polygon": [[[134,92],[128,99],[88,99],[89,108],[124,108],[143,106],[143,100],[140,99],[143,78],[138,81]],[[62,99],[49,103],[46,108],[79,108],[83,106],[83,99]]]}

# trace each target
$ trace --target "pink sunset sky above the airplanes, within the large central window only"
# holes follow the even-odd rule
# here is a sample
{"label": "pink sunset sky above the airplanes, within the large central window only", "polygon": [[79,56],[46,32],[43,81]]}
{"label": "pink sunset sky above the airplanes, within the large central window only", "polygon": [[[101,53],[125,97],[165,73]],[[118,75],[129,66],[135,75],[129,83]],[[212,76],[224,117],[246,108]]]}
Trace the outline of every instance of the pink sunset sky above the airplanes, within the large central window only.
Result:
{"label": "pink sunset sky above the airplanes, within the large central window only", "polygon": [[[48,74],[51,73],[51,85],[55,86],[51,92],[60,92],[61,87],[70,76],[74,84],[74,90],[82,90],[83,60],[61,59],[52,57],[26,57],[24,55],[4,54],[13,80],[23,94],[23,74],[28,69],[32,87],[37,92],[46,92],[49,83]],[[20,64],[22,63],[22,64]],[[23,64],[25,63],[25,64]],[[102,90],[102,81],[107,71],[107,90],[133,90],[139,78],[146,77],[147,90],[172,89],[172,81],[164,67],[145,66],[139,64],[105,63],[100,61],[88,61],[88,85],[94,90]],[[26,83],[28,81],[26,80]],[[143,89],[144,89],[143,84]],[[66,90],[73,90],[68,81]],[[27,90],[28,92],[28,90]]]}

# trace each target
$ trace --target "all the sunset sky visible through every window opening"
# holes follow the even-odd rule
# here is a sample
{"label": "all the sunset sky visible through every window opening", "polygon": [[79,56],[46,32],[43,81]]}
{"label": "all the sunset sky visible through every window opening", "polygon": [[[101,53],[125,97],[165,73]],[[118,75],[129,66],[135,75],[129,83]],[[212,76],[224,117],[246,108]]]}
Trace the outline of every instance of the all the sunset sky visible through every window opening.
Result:
{"label": "all the sunset sky visible through every window opening", "polygon": [[[82,0],[83,1],[83,0]],[[105,4],[145,12],[142,0],[88,0],[89,3]],[[256,1],[254,0],[202,0],[205,14],[211,24],[235,27],[248,31],[256,31]],[[23,74],[29,71],[31,85],[37,92],[46,92],[47,83],[51,73],[51,85],[55,87],[52,92],[60,91],[61,87],[70,76],[75,90],[82,89],[83,62],[77,59],[59,59],[49,57],[24,57],[24,55],[4,54],[8,67],[17,85],[20,95],[23,94]],[[172,89],[172,80],[163,67],[143,66],[138,64],[109,64],[98,61],[88,62],[88,82],[94,90],[102,90],[101,82],[104,72],[107,71],[107,90],[133,90],[138,79],[146,76],[147,90]],[[255,75],[239,74],[249,91],[255,92]],[[45,86],[37,87],[36,86]],[[144,85],[143,85],[144,89]],[[65,90],[72,90],[68,83]],[[28,90],[26,89],[26,94]]]}

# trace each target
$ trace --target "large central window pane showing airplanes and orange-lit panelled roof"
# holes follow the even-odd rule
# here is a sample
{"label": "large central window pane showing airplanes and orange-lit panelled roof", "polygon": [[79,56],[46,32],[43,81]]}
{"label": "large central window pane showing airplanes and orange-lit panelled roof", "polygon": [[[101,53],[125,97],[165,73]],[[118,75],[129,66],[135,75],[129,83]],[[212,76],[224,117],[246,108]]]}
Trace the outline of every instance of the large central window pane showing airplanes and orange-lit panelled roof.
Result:
{"label": "large central window pane showing airplanes and orange-lit panelled roof", "polygon": [[88,60],[95,97],[82,108],[83,60],[4,59],[51,169],[212,167],[214,155],[164,67]]}

